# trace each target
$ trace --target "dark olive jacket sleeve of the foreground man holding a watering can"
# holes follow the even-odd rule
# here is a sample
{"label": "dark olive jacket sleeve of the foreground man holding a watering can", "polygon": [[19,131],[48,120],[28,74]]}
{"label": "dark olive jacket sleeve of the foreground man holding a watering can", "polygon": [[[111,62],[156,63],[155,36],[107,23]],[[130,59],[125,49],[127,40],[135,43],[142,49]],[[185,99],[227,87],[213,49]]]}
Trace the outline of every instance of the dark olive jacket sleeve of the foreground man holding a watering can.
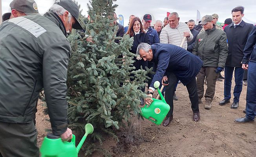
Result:
{"label": "dark olive jacket sleeve of the foreground man holding a watering can", "polygon": [[49,45],[43,54],[43,84],[54,135],[67,130],[67,71],[70,55],[68,40]]}

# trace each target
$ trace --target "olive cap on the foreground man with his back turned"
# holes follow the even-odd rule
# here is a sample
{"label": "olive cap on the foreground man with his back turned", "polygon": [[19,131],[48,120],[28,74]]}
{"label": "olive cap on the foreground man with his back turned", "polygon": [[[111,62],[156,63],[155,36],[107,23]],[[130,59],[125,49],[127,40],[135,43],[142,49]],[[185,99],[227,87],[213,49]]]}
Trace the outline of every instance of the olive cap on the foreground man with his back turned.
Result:
{"label": "olive cap on the foreground man with his back turned", "polygon": [[79,8],[73,0],[56,0],[54,4],[62,6],[75,18],[75,24],[72,26],[74,29],[83,29],[77,20],[79,18]]}

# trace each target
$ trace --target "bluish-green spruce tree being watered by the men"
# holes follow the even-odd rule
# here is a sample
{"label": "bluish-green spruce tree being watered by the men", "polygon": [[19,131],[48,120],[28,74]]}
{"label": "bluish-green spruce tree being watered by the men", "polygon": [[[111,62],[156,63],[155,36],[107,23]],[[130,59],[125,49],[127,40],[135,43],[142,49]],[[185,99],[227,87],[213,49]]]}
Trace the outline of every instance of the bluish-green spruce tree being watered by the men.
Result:
{"label": "bluish-green spruce tree being watered by the men", "polygon": [[[140,97],[145,94],[139,88],[145,86],[148,73],[142,69],[132,71],[135,55],[129,49],[133,38],[116,37],[115,1],[91,0],[90,21],[80,16],[85,22],[85,37],[76,32],[68,37],[72,48],[67,80],[69,121],[72,128],[83,128],[88,122],[93,124],[92,136],[100,142],[102,133],[109,133],[118,141],[115,130],[131,115],[140,113]],[[88,37],[93,42],[86,41]],[[116,39],[120,40],[119,44],[114,42]],[[130,81],[131,78],[134,80]]]}

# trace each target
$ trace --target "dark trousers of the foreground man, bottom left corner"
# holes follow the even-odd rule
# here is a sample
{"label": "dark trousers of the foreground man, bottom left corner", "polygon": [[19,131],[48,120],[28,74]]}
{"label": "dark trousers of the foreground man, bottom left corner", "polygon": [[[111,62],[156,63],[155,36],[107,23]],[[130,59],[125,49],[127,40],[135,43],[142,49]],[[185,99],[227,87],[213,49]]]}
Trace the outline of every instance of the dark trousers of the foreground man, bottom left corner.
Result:
{"label": "dark trousers of the foreground man, bottom left corner", "polygon": [[39,157],[33,121],[24,124],[0,122],[0,157]]}

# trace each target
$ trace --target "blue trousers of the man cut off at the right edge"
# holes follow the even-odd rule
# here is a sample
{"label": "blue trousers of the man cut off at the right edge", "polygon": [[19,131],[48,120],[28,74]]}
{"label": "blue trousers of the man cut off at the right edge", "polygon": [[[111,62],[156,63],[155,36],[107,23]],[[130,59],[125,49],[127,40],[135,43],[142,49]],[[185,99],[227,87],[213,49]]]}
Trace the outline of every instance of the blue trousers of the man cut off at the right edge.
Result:
{"label": "blue trousers of the man cut off at the right edge", "polygon": [[256,62],[249,62],[247,80],[245,116],[248,119],[254,119],[256,116]]}

